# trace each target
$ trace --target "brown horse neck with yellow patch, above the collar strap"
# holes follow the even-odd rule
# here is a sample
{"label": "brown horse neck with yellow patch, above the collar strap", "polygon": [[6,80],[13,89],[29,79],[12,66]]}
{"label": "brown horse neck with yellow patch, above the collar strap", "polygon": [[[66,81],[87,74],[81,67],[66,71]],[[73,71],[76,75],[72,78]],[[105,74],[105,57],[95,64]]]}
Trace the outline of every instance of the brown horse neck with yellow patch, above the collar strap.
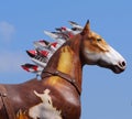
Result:
{"label": "brown horse neck with yellow patch, above the collar strap", "polygon": [[[81,61],[80,61],[80,40],[79,35],[68,40],[51,57],[47,68],[54,68],[62,73],[68,74],[76,80],[81,88]],[[43,74],[42,74],[43,77]]]}

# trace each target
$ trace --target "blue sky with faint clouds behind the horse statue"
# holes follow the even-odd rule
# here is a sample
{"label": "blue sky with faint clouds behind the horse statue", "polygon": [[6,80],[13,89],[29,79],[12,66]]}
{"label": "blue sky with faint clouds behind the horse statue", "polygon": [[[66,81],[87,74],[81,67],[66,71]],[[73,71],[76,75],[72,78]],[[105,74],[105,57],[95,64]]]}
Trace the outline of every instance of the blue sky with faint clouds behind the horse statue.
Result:
{"label": "blue sky with faint clouds behind the horse statue", "polygon": [[69,26],[69,20],[99,33],[128,62],[113,74],[97,66],[84,67],[81,119],[132,119],[132,1],[131,0],[2,0],[0,2],[0,83],[18,84],[35,75],[21,69],[30,62],[25,50],[47,39],[43,31]]}

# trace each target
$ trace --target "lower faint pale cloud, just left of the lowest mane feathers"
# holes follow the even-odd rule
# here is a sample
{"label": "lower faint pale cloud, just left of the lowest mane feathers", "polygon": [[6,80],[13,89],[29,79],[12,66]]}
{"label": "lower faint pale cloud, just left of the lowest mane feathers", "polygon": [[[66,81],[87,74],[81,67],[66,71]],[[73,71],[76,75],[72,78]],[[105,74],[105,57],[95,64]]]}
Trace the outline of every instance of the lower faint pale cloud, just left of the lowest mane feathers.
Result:
{"label": "lower faint pale cloud, just left of the lowest mane feathers", "polygon": [[19,52],[0,52],[0,73],[16,73],[28,62],[28,56]]}

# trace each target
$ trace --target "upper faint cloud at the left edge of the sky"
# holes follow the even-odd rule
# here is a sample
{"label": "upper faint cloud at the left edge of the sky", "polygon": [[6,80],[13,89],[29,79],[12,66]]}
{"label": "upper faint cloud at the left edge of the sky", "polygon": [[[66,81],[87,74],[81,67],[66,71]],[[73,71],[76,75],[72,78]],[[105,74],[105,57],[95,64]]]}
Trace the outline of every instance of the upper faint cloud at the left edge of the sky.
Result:
{"label": "upper faint cloud at the left edge of the sky", "polygon": [[3,41],[10,41],[14,35],[14,32],[15,28],[12,24],[6,21],[0,22],[0,37]]}

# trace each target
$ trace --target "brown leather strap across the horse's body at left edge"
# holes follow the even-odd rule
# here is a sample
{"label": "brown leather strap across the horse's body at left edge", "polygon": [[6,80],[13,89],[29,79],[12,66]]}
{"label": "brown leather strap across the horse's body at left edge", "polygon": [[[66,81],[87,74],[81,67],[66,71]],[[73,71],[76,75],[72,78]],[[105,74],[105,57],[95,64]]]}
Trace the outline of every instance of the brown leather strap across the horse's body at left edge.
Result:
{"label": "brown leather strap across the horse's body at left edge", "polygon": [[10,102],[9,98],[8,98],[7,89],[3,85],[0,85],[0,98],[3,102],[3,106],[4,106],[4,109],[7,111],[8,118],[9,119],[15,119],[13,108],[11,106],[11,102]]}

